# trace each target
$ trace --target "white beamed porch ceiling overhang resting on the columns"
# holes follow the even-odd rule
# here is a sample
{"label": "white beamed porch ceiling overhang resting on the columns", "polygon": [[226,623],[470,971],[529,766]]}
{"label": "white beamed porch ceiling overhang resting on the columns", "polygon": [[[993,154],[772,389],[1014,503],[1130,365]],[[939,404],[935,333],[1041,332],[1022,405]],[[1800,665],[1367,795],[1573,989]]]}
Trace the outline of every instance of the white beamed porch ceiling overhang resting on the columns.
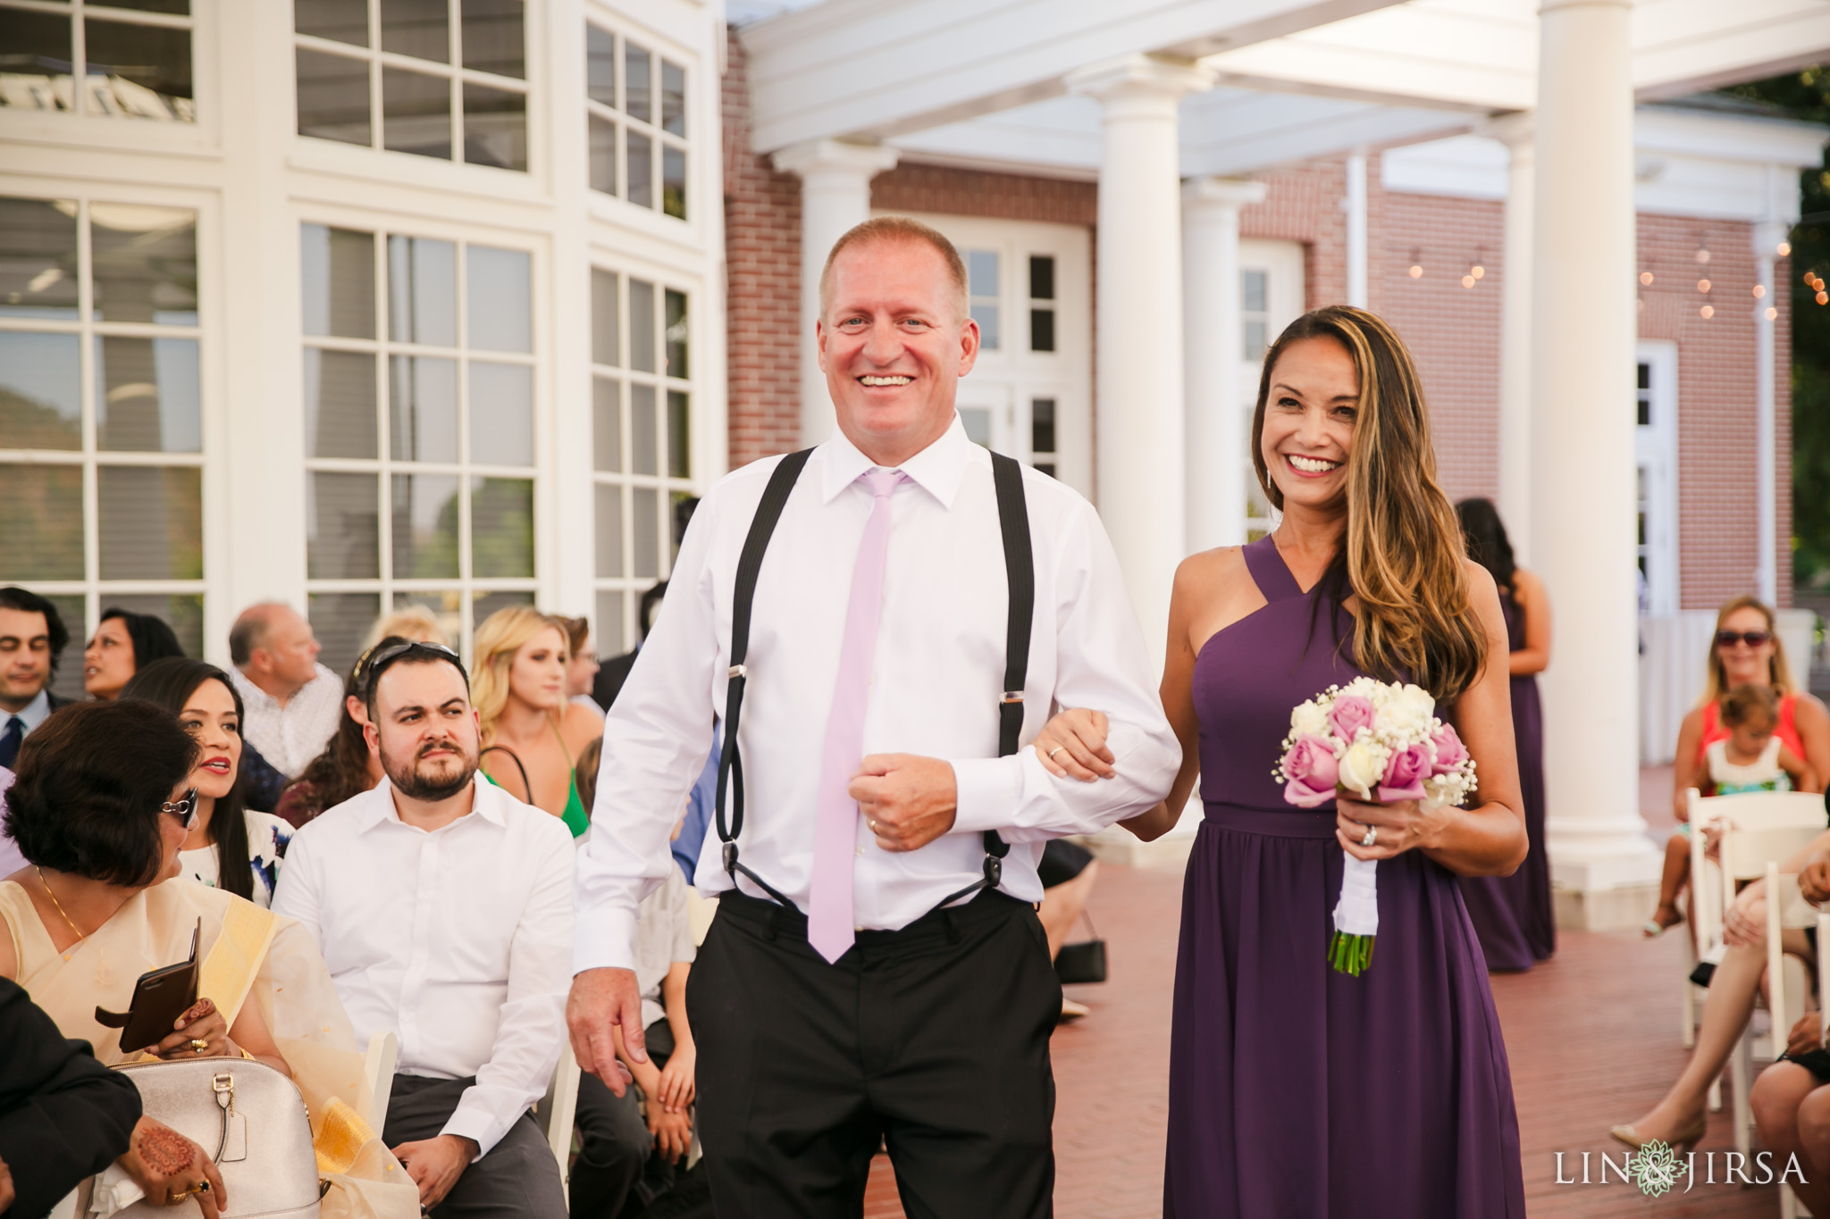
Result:
{"label": "white beamed porch ceiling overhang resting on the columns", "polygon": [[[1125,53],[1219,73],[1182,101],[1188,175],[1468,132],[1537,84],[1537,0],[824,0],[743,40],[758,152],[886,141],[1069,177],[1098,172],[1100,110],[1063,77]],[[1671,97],[1825,57],[1830,0],[1636,0],[1632,40],[1640,97]]]}

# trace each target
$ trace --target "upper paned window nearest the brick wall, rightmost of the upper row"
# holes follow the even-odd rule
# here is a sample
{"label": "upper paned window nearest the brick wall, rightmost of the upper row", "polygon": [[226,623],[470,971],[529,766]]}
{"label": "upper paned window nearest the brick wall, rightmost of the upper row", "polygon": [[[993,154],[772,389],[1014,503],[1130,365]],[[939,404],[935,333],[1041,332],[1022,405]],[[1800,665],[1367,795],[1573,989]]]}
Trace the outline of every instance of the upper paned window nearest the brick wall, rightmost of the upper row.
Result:
{"label": "upper paned window nearest the brick wall, rightmost of the upper row", "polygon": [[584,33],[591,190],[686,219],[686,69],[595,22]]}

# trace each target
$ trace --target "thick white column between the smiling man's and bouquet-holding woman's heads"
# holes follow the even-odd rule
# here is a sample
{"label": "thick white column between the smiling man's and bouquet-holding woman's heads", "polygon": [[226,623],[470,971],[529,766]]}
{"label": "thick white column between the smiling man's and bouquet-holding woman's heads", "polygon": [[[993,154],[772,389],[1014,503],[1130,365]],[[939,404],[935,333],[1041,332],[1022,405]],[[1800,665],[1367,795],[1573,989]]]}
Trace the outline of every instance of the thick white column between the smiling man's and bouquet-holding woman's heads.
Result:
{"label": "thick white column between the smiling man's and bouquet-holding woman's heads", "polygon": [[1177,101],[1213,82],[1186,60],[1125,55],[1067,86],[1103,106],[1100,154],[1098,506],[1144,638],[1162,665],[1182,525],[1182,196]]}

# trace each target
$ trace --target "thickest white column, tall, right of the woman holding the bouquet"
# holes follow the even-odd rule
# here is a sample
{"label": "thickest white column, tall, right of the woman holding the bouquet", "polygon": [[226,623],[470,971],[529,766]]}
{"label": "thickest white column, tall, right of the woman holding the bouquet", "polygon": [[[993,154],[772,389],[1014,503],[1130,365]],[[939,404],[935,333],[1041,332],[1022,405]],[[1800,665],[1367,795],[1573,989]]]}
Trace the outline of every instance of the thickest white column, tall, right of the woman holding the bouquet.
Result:
{"label": "thickest white column, tall, right of the woman holding the bouquet", "polygon": [[1587,927],[1645,917],[1634,588],[1632,0],[1543,0],[1532,260],[1532,556],[1552,881]]}

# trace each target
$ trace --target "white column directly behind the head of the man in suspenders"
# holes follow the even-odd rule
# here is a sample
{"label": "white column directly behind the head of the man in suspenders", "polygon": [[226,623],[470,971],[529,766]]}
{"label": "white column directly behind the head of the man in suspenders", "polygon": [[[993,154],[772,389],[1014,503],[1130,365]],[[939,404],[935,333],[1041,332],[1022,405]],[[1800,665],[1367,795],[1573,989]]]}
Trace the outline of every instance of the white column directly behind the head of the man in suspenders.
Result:
{"label": "white column directly behind the head of the man in suspenders", "polygon": [[834,426],[813,336],[820,316],[820,270],[833,243],[871,217],[871,179],[895,163],[893,148],[836,139],[791,144],[774,155],[778,170],[802,179],[802,444],[820,444]]}

